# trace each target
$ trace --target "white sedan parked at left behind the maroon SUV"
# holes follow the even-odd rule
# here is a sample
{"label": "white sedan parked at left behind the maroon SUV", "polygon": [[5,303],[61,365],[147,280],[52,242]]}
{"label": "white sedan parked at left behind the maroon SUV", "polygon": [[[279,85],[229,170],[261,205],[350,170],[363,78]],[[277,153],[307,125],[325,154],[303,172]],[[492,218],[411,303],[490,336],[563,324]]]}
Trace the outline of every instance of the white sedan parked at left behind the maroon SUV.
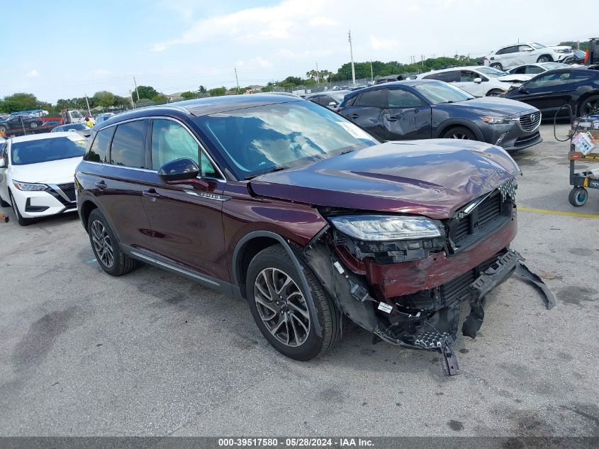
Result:
{"label": "white sedan parked at left behind the maroon SUV", "polygon": [[87,139],[76,133],[43,133],[0,145],[0,205],[12,206],[18,224],[77,210],[73,173]]}

